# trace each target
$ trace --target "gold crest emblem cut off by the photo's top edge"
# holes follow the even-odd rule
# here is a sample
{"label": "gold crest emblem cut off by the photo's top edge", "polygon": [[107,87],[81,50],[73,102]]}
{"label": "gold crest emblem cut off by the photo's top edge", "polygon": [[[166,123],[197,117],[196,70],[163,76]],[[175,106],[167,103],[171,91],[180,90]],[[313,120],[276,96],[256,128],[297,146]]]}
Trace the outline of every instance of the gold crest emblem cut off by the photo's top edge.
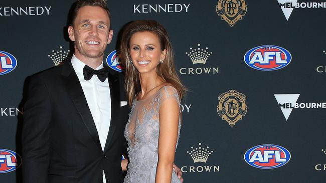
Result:
{"label": "gold crest emblem cut off by the photo's top edge", "polygon": [[230,26],[233,26],[246,14],[247,5],[245,0],[219,0],[216,5],[216,12]]}

